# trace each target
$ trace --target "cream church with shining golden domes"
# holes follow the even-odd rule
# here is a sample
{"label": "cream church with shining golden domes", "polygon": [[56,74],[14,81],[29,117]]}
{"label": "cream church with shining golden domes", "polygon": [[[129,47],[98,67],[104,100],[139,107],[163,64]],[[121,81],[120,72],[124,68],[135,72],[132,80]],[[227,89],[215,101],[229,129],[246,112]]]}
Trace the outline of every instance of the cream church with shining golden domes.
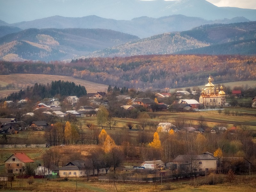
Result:
{"label": "cream church with shining golden domes", "polygon": [[208,84],[202,89],[201,95],[199,97],[199,103],[203,104],[205,107],[216,107],[225,106],[226,93],[223,91],[223,87],[220,86],[220,91],[218,87],[214,88],[212,84],[212,78],[209,76]]}

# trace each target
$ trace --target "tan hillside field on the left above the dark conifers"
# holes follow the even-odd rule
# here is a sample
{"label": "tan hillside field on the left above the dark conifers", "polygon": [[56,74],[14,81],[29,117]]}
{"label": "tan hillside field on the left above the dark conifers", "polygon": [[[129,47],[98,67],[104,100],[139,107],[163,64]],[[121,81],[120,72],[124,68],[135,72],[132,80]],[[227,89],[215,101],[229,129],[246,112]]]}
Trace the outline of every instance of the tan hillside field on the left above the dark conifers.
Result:
{"label": "tan hillside field on the left above the dark conifers", "polygon": [[[18,92],[21,88],[24,89],[27,86],[33,86],[35,83],[41,84],[51,84],[52,81],[70,81],[75,84],[84,85],[87,93],[103,91],[106,92],[108,85],[92,83],[90,81],[85,81],[82,79],[76,79],[69,76],[59,76],[59,75],[40,75],[40,74],[10,74],[10,75],[0,75],[0,86],[4,87],[8,84],[14,84],[14,90],[4,90],[0,91],[0,98],[8,96],[12,92]],[[18,89],[17,89],[18,88]]]}

